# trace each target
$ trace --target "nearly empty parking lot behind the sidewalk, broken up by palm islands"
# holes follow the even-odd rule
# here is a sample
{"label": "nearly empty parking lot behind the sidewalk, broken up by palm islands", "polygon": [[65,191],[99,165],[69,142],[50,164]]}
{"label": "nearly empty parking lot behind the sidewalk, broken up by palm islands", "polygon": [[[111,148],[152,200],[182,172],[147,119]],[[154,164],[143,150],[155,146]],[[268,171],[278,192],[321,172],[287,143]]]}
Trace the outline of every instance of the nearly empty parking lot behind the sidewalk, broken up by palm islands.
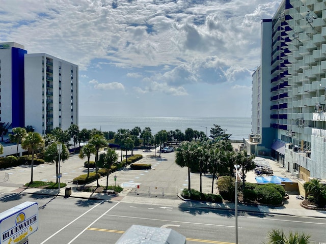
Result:
{"label": "nearly empty parking lot behind the sidewalk, broken up by palm islands", "polygon": [[[117,150],[119,159],[121,157],[121,151]],[[123,152],[125,154],[125,152]],[[155,152],[134,150],[133,154],[142,154],[143,159],[141,163],[151,164],[151,170],[131,170],[129,167],[120,169],[110,174],[108,185],[121,185],[128,191],[134,190],[137,185],[156,188],[175,188],[178,192],[188,187],[187,168],[181,168],[175,164],[175,152],[162,153],[161,157],[154,157]],[[159,156],[159,153],[156,153]],[[94,161],[95,156],[91,157],[91,161]],[[61,162],[60,172],[62,173],[61,182],[66,183],[68,186],[72,185],[73,178],[87,173],[87,168],[83,167],[84,162],[87,159],[79,159],[78,155],[72,155],[65,162]],[[94,169],[90,169],[94,171]],[[114,177],[116,176],[116,181]],[[7,176],[7,177],[6,177]],[[19,188],[22,185],[30,182],[31,180],[31,166],[21,165],[8,169],[0,170],[0,186],[1,187],[16,187]],[[40,181],[56,181],[56,167],[55,164],[35,165],[33,167],[33,180]],[[203,192],[211,192],[210,175],[204,175],[202,177]],[[100,185],[106,185],[106,177],[100,179]],[[191,174],[191,187],[199,190],[199,174]],[[96,184],[96,182],[93,182]]]}

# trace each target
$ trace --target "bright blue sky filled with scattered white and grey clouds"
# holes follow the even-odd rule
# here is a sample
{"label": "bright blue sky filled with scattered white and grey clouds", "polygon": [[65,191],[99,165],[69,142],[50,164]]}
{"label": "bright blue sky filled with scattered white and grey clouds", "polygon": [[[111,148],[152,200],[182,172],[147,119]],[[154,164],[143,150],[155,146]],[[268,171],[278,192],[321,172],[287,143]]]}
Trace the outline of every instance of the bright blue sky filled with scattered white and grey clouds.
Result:
{"label": "bright blue sky filled with scattered white and grey clouds", "polygon": [[79,115],[251,117],[281,0],[2,0],[0,42],[79,66]]}

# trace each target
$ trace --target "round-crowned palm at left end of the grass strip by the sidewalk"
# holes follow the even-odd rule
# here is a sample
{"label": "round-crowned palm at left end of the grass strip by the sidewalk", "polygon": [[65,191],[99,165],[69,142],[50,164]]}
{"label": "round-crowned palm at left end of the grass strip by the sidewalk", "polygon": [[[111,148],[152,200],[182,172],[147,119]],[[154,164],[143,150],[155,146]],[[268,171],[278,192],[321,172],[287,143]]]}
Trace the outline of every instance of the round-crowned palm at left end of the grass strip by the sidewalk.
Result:
{"label": "round-crowned palm at left end of the grass strip by the sidewalk", "polygon": [[32,163],[31,163],[31,183],[33,182],[33,165],[34,165],[34,153],[35,150],[41,148],[44,141],[41,135],[37,132],[29,132],[27,136],[22,140],[21,147],[23,149],[28,149],[32,153]]}

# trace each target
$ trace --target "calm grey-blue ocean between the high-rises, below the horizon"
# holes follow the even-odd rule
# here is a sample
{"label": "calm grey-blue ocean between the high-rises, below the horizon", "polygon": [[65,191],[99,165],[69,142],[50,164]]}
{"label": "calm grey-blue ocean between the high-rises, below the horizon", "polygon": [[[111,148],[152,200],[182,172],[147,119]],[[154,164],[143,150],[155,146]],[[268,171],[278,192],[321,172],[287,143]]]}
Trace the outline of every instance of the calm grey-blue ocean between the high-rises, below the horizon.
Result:
{"label": "calm grey-blue ocean between the high-rises, below the horizon", "polygon": [[79,116],[79,130],[84,128],[98,129],[101,131],[114,131],[118,129],[133,129],[138,126],[142,130],[149,127],[152,135],[160,130],[181,130],[187,128],[203,131],[210,135],[210,129],[214,124],[226,129],[232,134],[230,139],[238,140],[248,138],[251,133],[251,118],[249,117],[141,117],[141,116]]}

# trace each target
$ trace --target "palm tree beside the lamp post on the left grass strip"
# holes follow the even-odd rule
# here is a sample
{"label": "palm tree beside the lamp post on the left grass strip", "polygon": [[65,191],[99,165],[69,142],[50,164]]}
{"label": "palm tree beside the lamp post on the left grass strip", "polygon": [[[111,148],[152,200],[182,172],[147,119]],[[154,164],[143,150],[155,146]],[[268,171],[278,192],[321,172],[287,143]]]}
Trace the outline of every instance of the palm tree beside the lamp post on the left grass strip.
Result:
{"label": "palm tree beside the lamp post on the left grass strip", "polygon": [[[59,149],[59,143],[57,142],[52,142],[51,144],[49,144],[45,151],[44,151],[44,160],[46,162],[51,162],[56,163],[56,175],[58,175],[59,173],[59,160],[61,161],[65,161],[66,159],[68,159],[69,157],[69,150],[66,147],[65,144],[61,144],[62,148]],[[59,158],[59,150],[60,150],[60,158]],[[58,177],[57,177],[57,181],[58,183]]]}

